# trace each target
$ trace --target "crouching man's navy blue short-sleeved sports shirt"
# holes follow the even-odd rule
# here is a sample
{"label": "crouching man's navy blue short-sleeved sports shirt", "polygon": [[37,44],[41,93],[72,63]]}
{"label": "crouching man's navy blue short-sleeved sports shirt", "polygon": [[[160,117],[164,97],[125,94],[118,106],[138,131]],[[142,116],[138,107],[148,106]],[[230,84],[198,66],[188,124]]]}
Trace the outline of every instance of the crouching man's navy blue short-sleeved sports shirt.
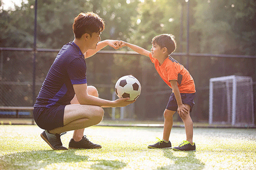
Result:
{"label": "crouching man's navy blue short-sleeved sports shirt", "polygon": [[85,84],[86,63],[84,54],[75,42],[61,48],[48,71],[34,107],[68,105],[75,96],[73,84]]}

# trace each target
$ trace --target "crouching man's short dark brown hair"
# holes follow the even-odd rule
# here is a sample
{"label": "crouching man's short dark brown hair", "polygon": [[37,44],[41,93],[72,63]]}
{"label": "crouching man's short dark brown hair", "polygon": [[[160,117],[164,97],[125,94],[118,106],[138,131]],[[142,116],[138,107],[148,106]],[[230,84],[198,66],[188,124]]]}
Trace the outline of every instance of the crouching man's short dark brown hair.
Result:
{"label": "crouching man's short dark brown hair", "polygon": [[73,32],[76,39],[80,39],[85,33],[92,36],[93,32],[101,32],[105,28],[104,20],[93,12],[81,12],[74,19]]}

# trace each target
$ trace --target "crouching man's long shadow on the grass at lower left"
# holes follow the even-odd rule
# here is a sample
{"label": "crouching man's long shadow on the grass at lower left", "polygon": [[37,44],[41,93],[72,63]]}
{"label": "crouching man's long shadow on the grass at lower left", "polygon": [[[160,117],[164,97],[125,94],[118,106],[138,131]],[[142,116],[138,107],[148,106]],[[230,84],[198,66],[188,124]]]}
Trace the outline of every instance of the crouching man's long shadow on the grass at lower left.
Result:
{"label": "crouching man's long shadow on the grass at lower left", "polygon": [[[67,169],[72,166],[75,166],[74,169],[76,167],[88,168],[89,165],[89,168],[101,170],[121,169],[126,166],[125,163],[118,160],[89,160],[89,156],[76,155],[76,151],[44,150],[7,154],[0,156],[0,169],[41,169],[51,164],[56,166],[57,169]],[[63,164],[60,165],[59,163]]]}

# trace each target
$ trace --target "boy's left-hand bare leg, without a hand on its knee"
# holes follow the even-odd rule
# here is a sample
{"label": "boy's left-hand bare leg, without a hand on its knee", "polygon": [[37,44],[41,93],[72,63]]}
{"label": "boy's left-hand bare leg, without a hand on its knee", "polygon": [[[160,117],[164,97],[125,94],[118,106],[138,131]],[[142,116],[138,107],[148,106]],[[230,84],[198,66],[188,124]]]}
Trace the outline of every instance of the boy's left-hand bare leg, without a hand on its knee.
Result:
{"label": "boy's left-hand bare leg, without a hand on its knee", "polygon": [[163,130],[163,140],[169,141],[170,133],[172,130],[173,120],[172,117],[174,116],[175,111],[170,111],[166,109],[164,111],[164,130]]}

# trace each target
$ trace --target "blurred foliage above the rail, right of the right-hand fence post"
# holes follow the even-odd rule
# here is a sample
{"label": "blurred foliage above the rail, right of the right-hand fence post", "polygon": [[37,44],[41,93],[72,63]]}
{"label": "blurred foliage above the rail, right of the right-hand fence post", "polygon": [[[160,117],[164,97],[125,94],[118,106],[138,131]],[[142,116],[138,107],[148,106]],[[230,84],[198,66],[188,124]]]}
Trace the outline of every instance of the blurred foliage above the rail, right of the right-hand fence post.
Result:
{"label": "blurred foliage above the rail, right of the right-hand fence post", "polygon": [[192,30],[201,41],[193,52],[255,55],[255,7],[253,0],[197,0]]}

